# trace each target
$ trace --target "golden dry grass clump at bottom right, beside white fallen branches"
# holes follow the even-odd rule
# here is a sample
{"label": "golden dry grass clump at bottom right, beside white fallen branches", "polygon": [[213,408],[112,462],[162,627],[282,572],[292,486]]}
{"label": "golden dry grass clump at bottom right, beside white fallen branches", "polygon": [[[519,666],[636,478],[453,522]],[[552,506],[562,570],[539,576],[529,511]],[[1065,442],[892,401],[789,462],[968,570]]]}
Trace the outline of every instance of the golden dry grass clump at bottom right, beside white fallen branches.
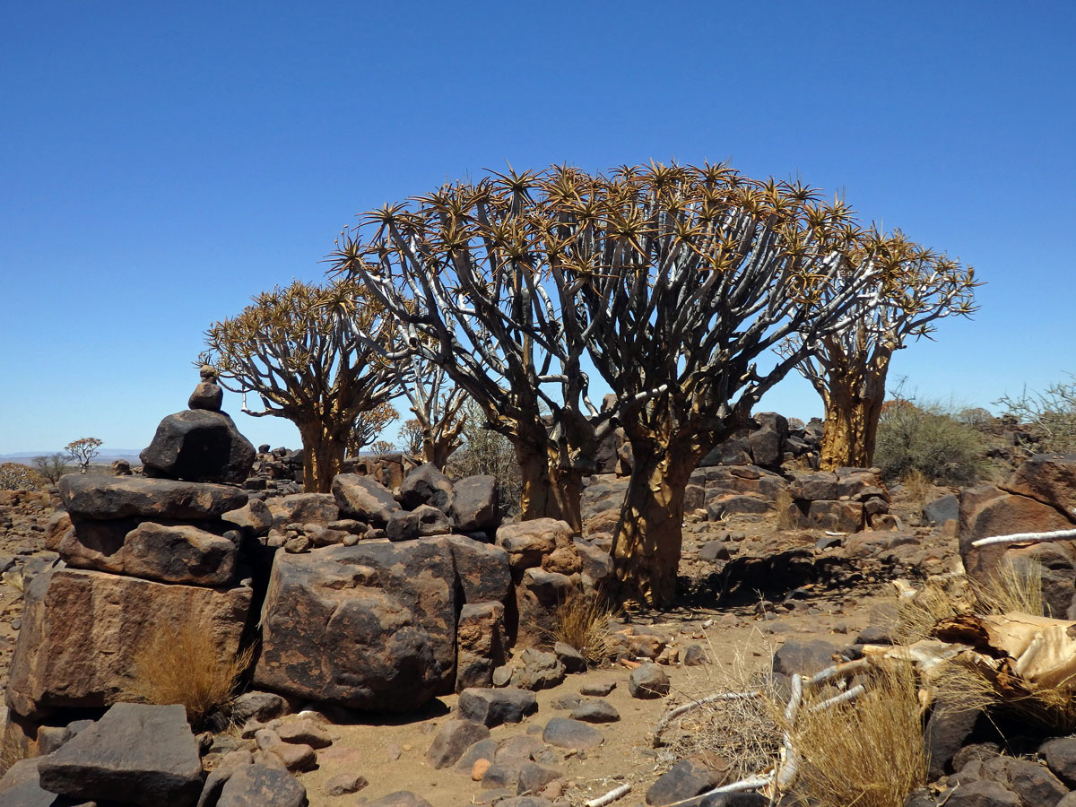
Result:
{"label": "golden dry grass clump at bottom right, beside white fallen branches", "polygon": [[[793,746],[802,762],[793,794],[815,807],[904,807],[926,781],[923,724],[915,671],[874,671],[854,702],[799,710]],[[819,693],[822,699],[833,692]]]}

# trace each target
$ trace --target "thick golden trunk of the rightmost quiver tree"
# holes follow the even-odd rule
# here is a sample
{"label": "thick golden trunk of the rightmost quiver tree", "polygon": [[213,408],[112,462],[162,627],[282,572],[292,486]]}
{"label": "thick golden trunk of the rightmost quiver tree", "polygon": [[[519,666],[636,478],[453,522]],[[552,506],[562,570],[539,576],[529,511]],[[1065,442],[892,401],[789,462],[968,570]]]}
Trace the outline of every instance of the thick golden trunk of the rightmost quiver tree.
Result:
{"label": "thick golden trunk of the rightmost quiver tree", "polygon": [[852,380],[831,377],[822,398],[825,421],[822,427],[822,470],[869,468],[874,465],[878,440],[878,419],[886,400],[888,358],[882,367]]}

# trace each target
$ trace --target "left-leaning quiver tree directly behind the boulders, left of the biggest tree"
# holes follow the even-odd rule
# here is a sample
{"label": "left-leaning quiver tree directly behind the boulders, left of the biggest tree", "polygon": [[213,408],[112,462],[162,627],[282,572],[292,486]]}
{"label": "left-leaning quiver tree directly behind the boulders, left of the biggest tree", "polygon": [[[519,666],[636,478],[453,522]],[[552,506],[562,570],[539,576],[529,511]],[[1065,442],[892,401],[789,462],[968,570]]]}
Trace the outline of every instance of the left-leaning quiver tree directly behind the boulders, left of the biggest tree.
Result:
{"label": "left-leaning quiver tree directly behind the boulders, left of the biggest tree", "polygon": [[[580,529],[582,480],[596,469],[611,413],[587,398],[585,340],[564,316],[574,289],[547,287],[541,189],[539,174],[509,170],[385,206],[343,232],[329,260],[400,323],[392,359],[410,354],[441,368],[484,426],[511,440],[522,518]],[[370,338],[362,327],[355,335]]]}

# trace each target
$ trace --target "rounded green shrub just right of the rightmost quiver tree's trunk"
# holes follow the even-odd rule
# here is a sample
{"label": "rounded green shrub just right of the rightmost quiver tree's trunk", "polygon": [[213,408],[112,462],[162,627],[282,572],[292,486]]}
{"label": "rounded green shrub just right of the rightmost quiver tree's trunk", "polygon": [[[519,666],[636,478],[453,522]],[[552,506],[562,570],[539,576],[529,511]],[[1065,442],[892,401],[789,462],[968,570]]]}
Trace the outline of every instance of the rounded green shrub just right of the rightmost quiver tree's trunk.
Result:
{"label": "rounded green shrub just right of the rightmost quiver tree's trunk", "polygon": [[887,480],[919,472],[935,484],[973,484],[986,473],[986,443],[938,404],[889,401],[878,421],[875,465]]}

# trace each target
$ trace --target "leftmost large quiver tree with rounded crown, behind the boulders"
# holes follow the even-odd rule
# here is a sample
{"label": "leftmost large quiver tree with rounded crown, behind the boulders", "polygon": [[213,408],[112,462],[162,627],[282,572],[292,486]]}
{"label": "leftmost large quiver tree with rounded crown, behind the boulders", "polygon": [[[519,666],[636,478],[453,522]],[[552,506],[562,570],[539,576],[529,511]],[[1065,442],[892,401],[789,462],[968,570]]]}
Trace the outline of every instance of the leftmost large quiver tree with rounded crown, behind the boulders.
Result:
{"label": "leftmost large quiver tree with rounded crown, behind the boulders", "polygon": [[[391,338],[384,309],[351,281],[320,286],[295,281],[253,298],[242,313],[206,331],[220,383],[244,394],[243,411],[286,417],[302,439],[303,489],[327,492],[339,472],[356,419],[393,397],[396,373],[377,342]],[[371,336],[356,343],[352,323]],[[245,394],[261,400],[246,408]]]}

